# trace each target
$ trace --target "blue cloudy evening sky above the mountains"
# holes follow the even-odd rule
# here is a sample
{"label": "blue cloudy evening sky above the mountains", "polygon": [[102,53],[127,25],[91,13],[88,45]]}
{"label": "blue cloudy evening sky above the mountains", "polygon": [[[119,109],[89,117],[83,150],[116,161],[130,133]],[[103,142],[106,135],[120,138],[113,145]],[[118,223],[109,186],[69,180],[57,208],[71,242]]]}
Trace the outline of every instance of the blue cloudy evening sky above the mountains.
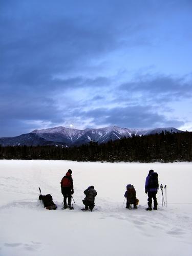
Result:
{"label": "blue cloudy evening sky above the mountains", "polygon": [[0,137],[192,131],[191,0],[0,0]]}

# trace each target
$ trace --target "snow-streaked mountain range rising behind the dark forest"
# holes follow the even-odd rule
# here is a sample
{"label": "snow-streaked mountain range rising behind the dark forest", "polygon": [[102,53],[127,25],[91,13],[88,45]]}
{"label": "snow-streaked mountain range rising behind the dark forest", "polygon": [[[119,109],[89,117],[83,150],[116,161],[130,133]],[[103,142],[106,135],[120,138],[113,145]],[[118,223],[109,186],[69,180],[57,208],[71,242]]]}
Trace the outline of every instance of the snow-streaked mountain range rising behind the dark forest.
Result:
{"label": "snow-streaked mountain range rising behind the dark forest", "polygon": [[109,140],[117,140],[121,137],[144,136],[162,131],[171,133],[181,133],[174,127],[155,128],[150,130],[120,128],[118,126],[109,126],[100,129],[71,129],[63,126],[34,130],[31,133],[22,134],[16,137],[0,138],[2,146],[36,146],[36,145],[63,145],[78,146],[89,143],[91,140],[97,141],[99,144],[106,143]]}

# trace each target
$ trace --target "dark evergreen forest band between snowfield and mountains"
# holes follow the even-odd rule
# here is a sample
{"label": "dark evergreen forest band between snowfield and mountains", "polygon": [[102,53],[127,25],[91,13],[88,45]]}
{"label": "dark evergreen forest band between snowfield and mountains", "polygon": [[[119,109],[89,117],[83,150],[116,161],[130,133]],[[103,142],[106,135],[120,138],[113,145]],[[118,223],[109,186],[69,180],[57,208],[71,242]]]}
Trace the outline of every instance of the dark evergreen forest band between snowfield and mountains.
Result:
{"label": "dark evergreen forest band between snowfield and mountains", "polygon": [[192,133],[170,133],[123,137],[80,146],[1,146],[0,159],[45,159],[106,162],[192,161]]}

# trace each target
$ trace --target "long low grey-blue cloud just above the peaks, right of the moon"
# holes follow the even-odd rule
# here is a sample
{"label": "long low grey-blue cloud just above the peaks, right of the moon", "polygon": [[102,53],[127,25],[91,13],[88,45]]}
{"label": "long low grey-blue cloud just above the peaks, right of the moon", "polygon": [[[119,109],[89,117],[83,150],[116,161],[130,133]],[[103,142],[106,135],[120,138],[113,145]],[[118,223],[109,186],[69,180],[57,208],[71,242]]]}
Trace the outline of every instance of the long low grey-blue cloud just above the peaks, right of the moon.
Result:
{"label": "long low grey-blue cloud just above the peaks, right of the moon", "polygon": [[84,118],[93,118],[94,125],[118,125],[130,128],[152,128],[162,126],[179,127],[184,122],[167,119],[165,115],[154,111],[151,106],[127,106],[126,108],[105,109],[98,108],[92,111],[79,112]]}

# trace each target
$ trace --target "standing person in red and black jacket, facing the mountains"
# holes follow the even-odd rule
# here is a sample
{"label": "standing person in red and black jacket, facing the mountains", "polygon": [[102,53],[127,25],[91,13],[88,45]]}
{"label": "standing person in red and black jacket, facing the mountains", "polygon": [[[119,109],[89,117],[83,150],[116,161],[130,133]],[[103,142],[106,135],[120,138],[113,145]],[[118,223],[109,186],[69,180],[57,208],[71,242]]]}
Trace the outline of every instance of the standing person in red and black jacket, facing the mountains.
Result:
{"label": "standing person in red and black jacket, facing the mountains", "polygon": [[[62,178],[61,184],[61,193],[63,195],[63,207],[62,209],[71,208],[71,195],[73,195],[73,178],[71,176],[72,170],[69,169],[66,175]],[[67,205],[68,198],[68,205]]]}

